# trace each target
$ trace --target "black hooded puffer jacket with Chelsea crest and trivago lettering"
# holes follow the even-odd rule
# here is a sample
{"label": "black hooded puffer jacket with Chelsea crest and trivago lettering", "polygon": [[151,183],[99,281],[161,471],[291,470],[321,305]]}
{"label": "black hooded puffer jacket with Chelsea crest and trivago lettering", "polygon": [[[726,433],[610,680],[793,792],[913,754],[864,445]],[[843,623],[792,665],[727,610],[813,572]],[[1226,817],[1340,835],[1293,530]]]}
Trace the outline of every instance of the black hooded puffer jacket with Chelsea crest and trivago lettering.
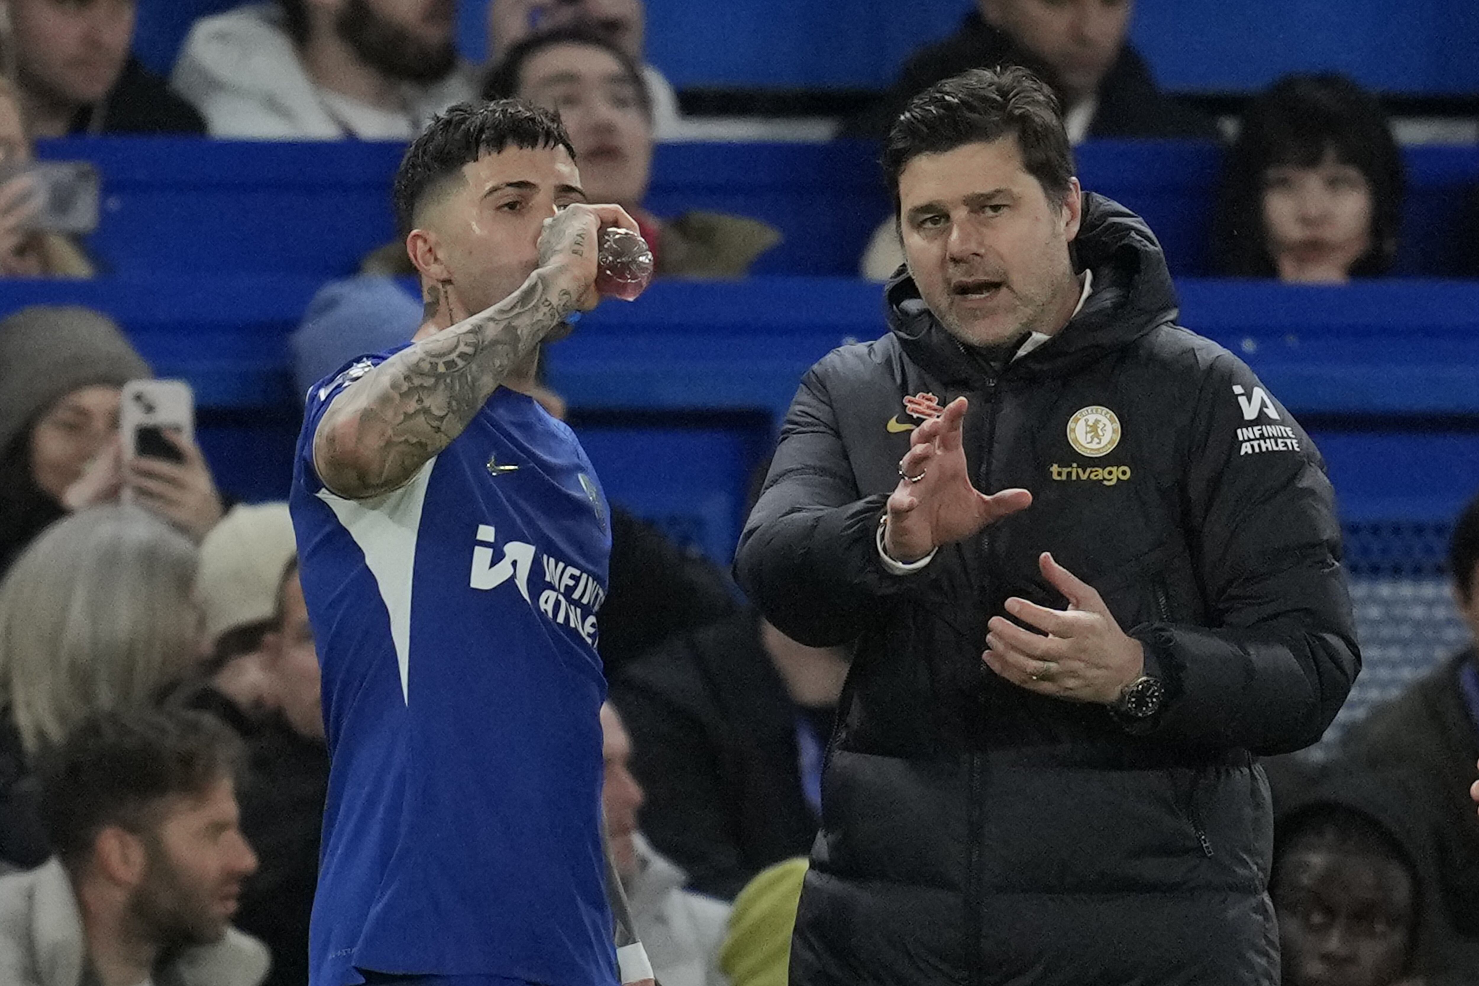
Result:
{"label": "black hooded puffer jacket with Chelsea crest and trivago lettering", "polygon": [[[901,278],[893,331],[822,359],[791,405],[737,574],[791,637],[858,639],[793,983],[1278,982],[1254,754],[1318,739],[1359,668],[1331,488],[1253,373],[1173,324],[1136,216],[1086,197],[1077,254],[1083,310],[1004,371]],[[889,421],[921,392],[969,396],[981,489],[1035,500],[898,577],[874,532],[910,442]],[[1100,411],[1080,433],[1097,455],[1069,443],[1086,408],[1118,424],[1111,448]],[[1167,681],[1139,735],[982,664],[1006,597],[1065,605],[1044,550]]]}

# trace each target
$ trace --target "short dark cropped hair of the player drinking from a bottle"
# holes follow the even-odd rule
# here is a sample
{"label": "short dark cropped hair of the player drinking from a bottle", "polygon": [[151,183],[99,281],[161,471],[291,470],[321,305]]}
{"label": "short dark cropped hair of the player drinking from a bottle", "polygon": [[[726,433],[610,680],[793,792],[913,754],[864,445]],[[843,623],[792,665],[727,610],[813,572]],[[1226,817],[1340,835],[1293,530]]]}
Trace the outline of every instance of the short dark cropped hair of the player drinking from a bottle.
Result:
{"label": "short dark cropped hair of the player drinking from a bottle", "polygon": [[504,148],[575,148],[559,114],[522,99],[460,102],[448,106],[426,126],[401,158],[395,173],[395,220],[401,235],[414,228],[416,207],[429,189],[451,177],[463,164]]}

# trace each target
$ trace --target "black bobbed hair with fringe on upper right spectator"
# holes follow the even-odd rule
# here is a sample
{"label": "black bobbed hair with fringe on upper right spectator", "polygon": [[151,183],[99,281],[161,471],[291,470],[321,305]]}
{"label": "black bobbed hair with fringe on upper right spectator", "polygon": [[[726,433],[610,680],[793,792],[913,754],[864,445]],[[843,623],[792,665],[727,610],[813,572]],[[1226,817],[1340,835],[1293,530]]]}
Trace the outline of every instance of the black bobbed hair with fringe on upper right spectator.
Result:
{"label": "black bobbed hair with fringe on upper right spectator", "polygon": [[1402,225],[1402,154],[1375,96],[1338,72],[1322,72],[1285,75],[1244,111],[1213,219],[1217,273],[1278,273],[1263,223],[1265,173],[1278,166],[1315,167],[1327,155],[1359,170],[1371,186],[1371,248],[1350,275],[1375,276],[1392,268]]}

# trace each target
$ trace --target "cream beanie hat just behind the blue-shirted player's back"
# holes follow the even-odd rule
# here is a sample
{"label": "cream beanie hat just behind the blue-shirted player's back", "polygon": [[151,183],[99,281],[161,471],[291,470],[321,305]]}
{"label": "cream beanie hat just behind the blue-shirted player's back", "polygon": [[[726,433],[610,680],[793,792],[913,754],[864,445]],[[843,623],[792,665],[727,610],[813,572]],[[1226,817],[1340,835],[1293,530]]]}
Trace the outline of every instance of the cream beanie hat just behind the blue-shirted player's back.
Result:
{"label": "cream beanie hat just behind the blue-shirted player's back", "polygon": [[195,599],[206,639],[272,619],[288,562],[297,554],[285,503],[238,504],[200,545]]}

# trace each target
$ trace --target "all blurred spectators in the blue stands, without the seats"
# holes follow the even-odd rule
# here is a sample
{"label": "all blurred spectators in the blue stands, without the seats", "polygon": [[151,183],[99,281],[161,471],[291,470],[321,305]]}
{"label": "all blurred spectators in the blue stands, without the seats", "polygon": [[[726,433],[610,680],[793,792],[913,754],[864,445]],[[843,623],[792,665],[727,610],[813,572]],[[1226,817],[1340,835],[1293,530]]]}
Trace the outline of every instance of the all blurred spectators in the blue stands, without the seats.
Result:
{"label": "all blurred spectators in the blue stands, without the seats", "polygon": [[[782,241],[751,216],[645,205],[655,146],[692,121],[645,59],[640,0],[491,0],[487,65],[458,53],[451,0],[265,0],[201,16],[169,80],[132,55],[135,0],[0,9],[0,278],[108,276],[86,232],[37,223],[38,140],[404,143],[503,98],[561,114],[590,201],[632,214],[660,278],[744,278]],[[961,71],[1018,65],[1075,146],[1226,139],[1216,273],[1393,271],[1402,148],[1350,78],[1288,75],[1219,121],[1157,87],[1131,0],[963,13],[845,137],[876,142]],[[861,276],[902,272],[896,216],[858,247]],[[325,278],[291,340],[296,393],[410,339],[413,273],[395,241]],[[238,501],[186,432],[135,454],[127,386],[154,371],[127,327],[80,305],[0,316],[0,985],[306,986],[330,757],[287,504]],[[565,417],[562,395],[537,396]],[[1449,479],[1479,492],[1479,470]],[[602,803],[655,979],[778,986],[852,652],[788,637],[620,503],[611,543]],[[1479,497],[1451,519],[1446,572],[1469,645],[1334,741],[1265,763],[1288,986],[1479,983]]]}

